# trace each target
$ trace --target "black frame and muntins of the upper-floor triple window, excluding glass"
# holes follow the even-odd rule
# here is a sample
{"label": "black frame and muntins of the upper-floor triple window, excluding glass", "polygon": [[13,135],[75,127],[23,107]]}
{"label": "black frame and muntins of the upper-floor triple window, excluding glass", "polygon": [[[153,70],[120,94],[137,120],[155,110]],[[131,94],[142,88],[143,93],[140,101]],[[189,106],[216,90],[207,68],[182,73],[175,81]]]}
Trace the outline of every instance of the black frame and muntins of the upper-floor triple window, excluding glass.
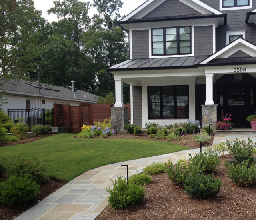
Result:
{"label": "black frame and muntins of the upper-floor triple window, excluding glass", "polygon": [[[177,35],[177,53],[176,54],[167,54],[166,53],[166,42],[171,42],[170,40],[166,41],[166,29],[168,28],[176,28],[176,35]],[[180,53],[180,28],[190,28],[190,53]],[[153,30],[162,29],[163,30],[163,41],[155,41],[153,42]],[[153,43],[160,43],[163,42],[164,44],[164,53],[163,54],[153,54]],[[172,56],[172,55],[187,55],[192,54],[192,26],[175,26],[175,27],[166,27],[166,28],[152,28],[151,29],[151,55],[152,56]]]}

